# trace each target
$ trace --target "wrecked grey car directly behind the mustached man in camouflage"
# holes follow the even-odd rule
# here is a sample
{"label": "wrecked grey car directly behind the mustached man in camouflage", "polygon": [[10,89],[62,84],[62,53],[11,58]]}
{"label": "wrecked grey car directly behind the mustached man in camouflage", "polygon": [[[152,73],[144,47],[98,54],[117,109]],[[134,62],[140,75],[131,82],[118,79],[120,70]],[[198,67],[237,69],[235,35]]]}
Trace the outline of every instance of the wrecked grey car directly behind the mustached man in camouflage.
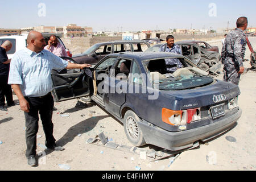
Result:
{"label": "wrecked grey car directly behind the mustached man in camouflage", "polygon": [[[217,73],[221,69],[220,53],[214,51],[207,51],[197,44],[187,42],[176,42],[181,48],[182,55],[187,57],[201,69],[210,73]],[[156,44],[148,48],[146,51],[158,52],[163,44]]]}

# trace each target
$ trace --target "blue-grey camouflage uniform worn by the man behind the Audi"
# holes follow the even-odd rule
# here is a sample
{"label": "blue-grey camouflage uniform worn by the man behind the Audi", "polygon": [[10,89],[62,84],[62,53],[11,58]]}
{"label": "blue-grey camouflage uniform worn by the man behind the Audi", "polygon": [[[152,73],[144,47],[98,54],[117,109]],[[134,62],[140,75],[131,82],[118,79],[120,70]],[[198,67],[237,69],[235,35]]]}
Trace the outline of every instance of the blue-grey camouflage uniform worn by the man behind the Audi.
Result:
{"label": "blue-grey camouflage uniform worn by the man behind the Audi", "polygon": [[[181,55],[181,49],[178,45],[174,44],[172,48],[169,48],[167,44],[163,44],[163,46],[160,47],[160,52],[171,52],[171,53],[177,53]],[[170,73],[174,73],[178,68],[183,68],[183,64],[180,62],[179,59],[165,59],[166,60],[166,67],[167,71]]]}

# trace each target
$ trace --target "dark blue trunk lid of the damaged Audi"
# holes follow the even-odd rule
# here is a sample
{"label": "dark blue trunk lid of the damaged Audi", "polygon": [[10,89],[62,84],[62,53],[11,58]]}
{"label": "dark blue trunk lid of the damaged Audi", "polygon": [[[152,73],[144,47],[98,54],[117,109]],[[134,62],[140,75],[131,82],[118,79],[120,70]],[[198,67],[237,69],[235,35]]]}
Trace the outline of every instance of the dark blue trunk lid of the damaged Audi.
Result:
{"label": "dark blue trunk lid of the damaged Audi", "polygon": [[208,106],[217,104],[213,102],[213,96],[224,94],[226,99],[230,100],[240,94],[240,89],[237,85],[214,80],[213,84],[203,86],[196,89],[186,90],[160,90],[164,98],[170,98],[170,109],[185,110],[196,107]]}

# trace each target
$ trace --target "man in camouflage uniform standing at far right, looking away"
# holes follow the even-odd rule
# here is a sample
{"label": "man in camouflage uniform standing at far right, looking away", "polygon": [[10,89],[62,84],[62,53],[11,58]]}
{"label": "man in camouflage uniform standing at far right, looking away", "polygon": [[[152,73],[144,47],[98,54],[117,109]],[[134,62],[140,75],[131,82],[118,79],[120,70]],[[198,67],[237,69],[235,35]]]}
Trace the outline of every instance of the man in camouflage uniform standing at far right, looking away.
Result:
{"label": "man in camouflage uniform standing at far right, looking away", "polygon": [[224,63],[224,81],[239,84],[243,73],[243,58],[245,57],[246,37],[243,32],[247,28],[247,18],[242,16],[237,19],[237,28],[231,31],[225,39],[221,51]]}

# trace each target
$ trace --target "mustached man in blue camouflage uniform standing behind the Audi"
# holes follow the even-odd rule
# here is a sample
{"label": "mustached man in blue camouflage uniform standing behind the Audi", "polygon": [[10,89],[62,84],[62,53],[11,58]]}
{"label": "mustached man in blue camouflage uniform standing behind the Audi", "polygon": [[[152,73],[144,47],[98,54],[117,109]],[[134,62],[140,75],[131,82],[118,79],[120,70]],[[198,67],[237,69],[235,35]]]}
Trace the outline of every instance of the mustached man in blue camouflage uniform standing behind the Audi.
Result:
{"label": "mustached man in blue camouflage uniform standing behind the Audi", "polygon": [[[171,52],[181,55],[181,49],[174,43],[174,36],[168,35],[166,37],[166,44],[160,47],[160,52]],[[174,73],[177,69],[183,68],[183,64],[179,59],[166,59],[167,72]]]}

